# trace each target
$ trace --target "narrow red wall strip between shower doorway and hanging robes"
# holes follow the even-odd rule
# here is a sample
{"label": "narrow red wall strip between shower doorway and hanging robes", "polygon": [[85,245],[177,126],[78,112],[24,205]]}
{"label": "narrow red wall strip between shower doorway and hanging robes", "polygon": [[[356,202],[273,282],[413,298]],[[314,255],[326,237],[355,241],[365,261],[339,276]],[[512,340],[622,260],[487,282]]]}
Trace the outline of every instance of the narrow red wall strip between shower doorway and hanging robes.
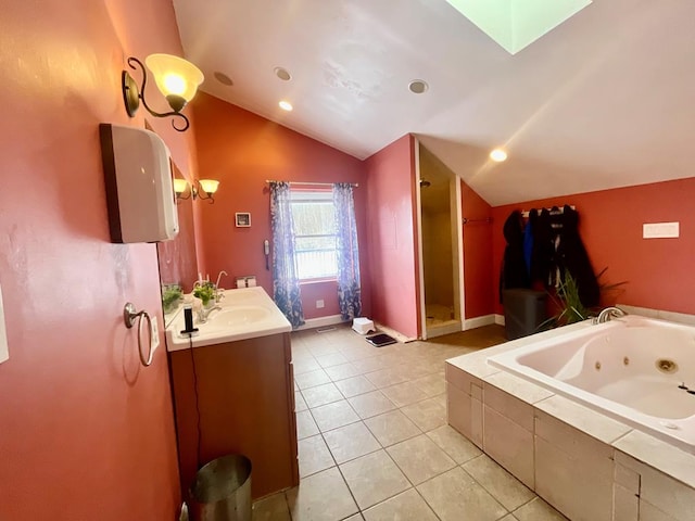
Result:
{"label": "narrow red wall strip between shower doorway and hanging robes", "polygon": [[464,294],[466,318],[494,313],[492,227],[480,220],[492,216],[491,206],[468,185],[460,181],[462,214],[472,220],[463,227]]}

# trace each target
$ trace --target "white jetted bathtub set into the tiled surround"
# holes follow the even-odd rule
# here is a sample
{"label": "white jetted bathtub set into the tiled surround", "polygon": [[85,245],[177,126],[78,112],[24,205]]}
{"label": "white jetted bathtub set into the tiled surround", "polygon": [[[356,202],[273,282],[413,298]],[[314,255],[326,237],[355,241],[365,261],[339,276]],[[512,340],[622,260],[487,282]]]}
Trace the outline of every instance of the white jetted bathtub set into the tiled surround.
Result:
{"label": "white jetted bathtub set into the tiled surround", "polygon": [[628,315],[488,363],[695,454],[695,327]]}

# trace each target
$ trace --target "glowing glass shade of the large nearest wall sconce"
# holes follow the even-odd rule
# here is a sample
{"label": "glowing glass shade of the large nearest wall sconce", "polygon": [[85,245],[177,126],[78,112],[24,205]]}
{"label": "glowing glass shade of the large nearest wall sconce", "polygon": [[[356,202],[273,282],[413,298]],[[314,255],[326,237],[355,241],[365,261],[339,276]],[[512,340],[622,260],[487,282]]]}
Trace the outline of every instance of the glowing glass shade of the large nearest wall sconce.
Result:
{"label": "glowing glass shade of the large nearest wall sconce", "polygon": [[165,97],[179,97],[189,102],[195,96],[204,76],[192,63],[170,54],[150,54],[144,63]]}

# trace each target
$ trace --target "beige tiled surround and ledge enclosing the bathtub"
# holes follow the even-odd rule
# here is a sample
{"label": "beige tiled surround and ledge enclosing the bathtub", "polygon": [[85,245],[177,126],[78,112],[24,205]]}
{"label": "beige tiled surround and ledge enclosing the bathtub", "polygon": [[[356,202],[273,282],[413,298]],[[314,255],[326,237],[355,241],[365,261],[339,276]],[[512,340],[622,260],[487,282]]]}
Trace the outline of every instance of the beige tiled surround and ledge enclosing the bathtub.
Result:
{"label": "beige tiled surround and ledge enclosing the bathtub", "polygon": [[448,359],[448,423],[572,520],[695,519],[695,456],[488,364],[592,327],[582,322]]}

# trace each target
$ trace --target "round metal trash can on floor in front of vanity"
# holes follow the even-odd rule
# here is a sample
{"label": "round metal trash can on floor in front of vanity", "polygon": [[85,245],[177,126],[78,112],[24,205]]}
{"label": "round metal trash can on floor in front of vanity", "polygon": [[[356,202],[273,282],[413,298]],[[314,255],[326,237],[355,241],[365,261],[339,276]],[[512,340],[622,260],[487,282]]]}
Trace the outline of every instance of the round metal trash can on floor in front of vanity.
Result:
{"label": "round metal trash can on floor in front of vanity", "polygon": [[191,521],[251,521],[251,460],[213,459],[195,473],[190,497]]}

